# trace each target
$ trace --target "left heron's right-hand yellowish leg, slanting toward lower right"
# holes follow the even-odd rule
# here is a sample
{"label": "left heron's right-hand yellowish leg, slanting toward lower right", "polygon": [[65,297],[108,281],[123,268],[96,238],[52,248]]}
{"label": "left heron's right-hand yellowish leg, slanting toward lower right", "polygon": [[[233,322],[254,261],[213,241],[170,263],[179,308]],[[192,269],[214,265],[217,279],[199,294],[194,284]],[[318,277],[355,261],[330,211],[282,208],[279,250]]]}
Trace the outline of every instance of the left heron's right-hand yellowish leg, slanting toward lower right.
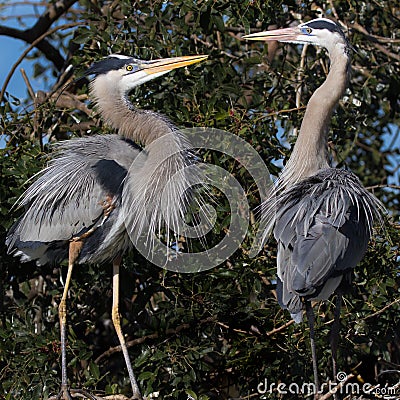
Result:
{"label": "left heron's right-hand yellowish leg, slanting toward lower right", "polygon": [[125,358],[126,368],[128,369],[129,379],[132,385],[132,399],[142,400],[139,386],[136,382],[135,375],[133,373],[131,361],[128,354],[128,348],[126,347],[125,338],[121,329],[121,320],[119,315],[118,303],[119,303],[119,267],[121,265],[122,257],[117,256],[113,261],[113,306],[112,306],[112,320],[114,323],[115,331],[117,332],[119,343],[121,345],[122,353]]}

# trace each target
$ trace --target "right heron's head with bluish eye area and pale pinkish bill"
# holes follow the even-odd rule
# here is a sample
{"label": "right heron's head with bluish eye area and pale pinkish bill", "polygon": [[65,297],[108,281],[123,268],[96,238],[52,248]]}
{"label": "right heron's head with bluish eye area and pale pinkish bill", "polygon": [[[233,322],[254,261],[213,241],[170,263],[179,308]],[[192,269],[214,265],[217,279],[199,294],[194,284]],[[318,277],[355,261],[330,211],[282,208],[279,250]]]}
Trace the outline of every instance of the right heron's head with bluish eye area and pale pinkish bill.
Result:
{"label": "right heron's head with bluish eye area and pale pinkish bill", "polygon": [[328,51],[337,44],[348,47],[347,39],[338,24],[327,18],[316,18],[296,27],[275,29],[243,36],[248,40],[264,40],[288,43],[310,43],[325,47]]}

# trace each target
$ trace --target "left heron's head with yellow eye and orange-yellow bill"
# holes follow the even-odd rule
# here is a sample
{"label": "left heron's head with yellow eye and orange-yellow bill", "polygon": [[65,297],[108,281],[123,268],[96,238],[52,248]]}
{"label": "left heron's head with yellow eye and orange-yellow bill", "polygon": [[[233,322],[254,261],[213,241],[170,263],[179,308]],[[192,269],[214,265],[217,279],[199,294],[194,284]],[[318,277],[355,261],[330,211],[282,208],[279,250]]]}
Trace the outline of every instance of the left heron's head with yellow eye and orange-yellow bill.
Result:
{"label": "left heron's head with yellow eye and orange-yellow bill", "polygon": [[155,79],[176,68],[185,67],[205,60],[208,56],[182,56],[143,61],[137,58],[113,54],[94,63],[86,75],[94,75],[93,84],[122,93]]}

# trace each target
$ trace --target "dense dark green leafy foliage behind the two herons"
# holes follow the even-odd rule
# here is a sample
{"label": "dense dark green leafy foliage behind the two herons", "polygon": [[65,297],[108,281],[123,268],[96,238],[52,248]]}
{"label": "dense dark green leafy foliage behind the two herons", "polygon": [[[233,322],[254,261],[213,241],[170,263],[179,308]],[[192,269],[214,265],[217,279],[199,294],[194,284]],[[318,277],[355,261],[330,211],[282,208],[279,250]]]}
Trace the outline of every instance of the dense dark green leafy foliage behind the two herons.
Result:
{"label": "dense dark green leafy foliage behind the two herons", "polygon": [[[16,99],[4,86],[0,106],[6,138],[0,149],[0,398],[47,399],[59,389],[57,304],[65,266],[21,264],[6,254],[4,240],[22,212],[12,205],[29,184],[27,179],[46,164],[49,143],[108,132],[87,100],[88,82],[76,78],[111,52],[143,59],[207,54],[206,62],[139,87],[132,101],[159,111],[178,126],[215,127],[240,136],[276,174],[290,155],[293,128],[301,123],[307,99],[326,76],[327,57],[311,47],[302,55],[302,48],[294,45],[248,43],[241,35],[320,13],[348,28],[356,50],[349,89],[331,124],[332,157],[354,171],[388,209],[346,297],[339,369],[354,374],[354,382],[398,384],[398,2],[64,0],[57,2],[58,8],[55,4],[42,9],[36,29],[23,38],[31,43],[49,33],[29,53],[35,73],[48,80],[48,87],[34,98],[27,93],[25,99]],[[6,23],[0,33],[16,37],[4,29]],[[240,164],[211,151],[200,155],[236,176],[251,208],[259,204],[254,182]],[[219,218],[213,234],[218,240],[229,208],[224,196],[216,192],[215,198]],[[125,258],[123,330],[146,396],[252,399],[262,398],[260,384],[266,380],[275,385],[312,382],[307,325],[291,323],[275,298],[275,244],[269,242],[250,259],[251,240],[250,234],[229,260],[198,274],[163,271],[135,252]],[[69,379],[76,387],[128,395],[130,386],[111,324],[111,267],[76,268],[73,278],[68,299]],[[331,302],[320,304],[316,312],[320,375],[328,381]],[[273,391],[265,396],[282,395]]]}

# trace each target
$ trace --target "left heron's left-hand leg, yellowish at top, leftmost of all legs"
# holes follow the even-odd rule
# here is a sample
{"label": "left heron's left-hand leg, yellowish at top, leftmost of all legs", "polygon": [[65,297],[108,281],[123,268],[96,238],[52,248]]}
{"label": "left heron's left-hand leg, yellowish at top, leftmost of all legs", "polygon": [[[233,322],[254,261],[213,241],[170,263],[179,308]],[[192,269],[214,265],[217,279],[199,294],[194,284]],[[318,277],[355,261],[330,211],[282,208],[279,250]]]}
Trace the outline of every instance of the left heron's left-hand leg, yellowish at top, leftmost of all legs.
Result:
{"label": "left heron's left-hand leg, yellowish at top, leftmost of all legs", "polygon": [[82,242],[71,241],[69,244],[69,255],[68,255],[68,272],[65,280],[65,286],[63,295],[61,297],[60,304],[58,306],[58,316],[60,319],[60,331],[61,331],[61,392],[57,396],[62,400],[72,400],[72,397],[68,391],[68,380],[67,380],[67,295],[69,284],[71,282],[72,270],[74,263],[79,256],[82,249]]}

